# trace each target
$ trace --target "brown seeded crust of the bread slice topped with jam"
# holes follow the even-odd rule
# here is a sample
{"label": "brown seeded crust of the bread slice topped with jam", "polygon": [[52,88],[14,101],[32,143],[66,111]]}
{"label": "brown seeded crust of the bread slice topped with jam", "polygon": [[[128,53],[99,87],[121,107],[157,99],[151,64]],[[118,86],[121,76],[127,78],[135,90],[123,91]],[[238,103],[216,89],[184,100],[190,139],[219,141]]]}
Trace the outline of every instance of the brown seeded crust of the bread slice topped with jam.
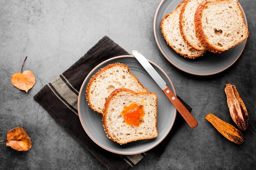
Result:
{"label": "brown seeded crust of the bread slice topped with jam", "polygon": [[108,114],[108,107],[110,106],[110,102],[112,101],[112,99],[118,94],[118,93],[121,93],[121,92],[128,92],[128,93],[132,93],[134,95],[145,95],[145,94],[153,94],[155,95],[156,97],[156,101],[155,101],[155,128],[157,130],[157,95],[154,93],[154,92],[139,92],[139,93],[136,93],[135,91],[132,91],[132,90],[129,90],[127,88],[118,88],[118,89],[115,89],[115,91],[113,91],[109,96],[108,98],[106,99],[106,103],[105,103],[105,107],[104,107],[104,110],[103,110],[103,117],[102,117],[102,122],[103,122],[103,128],[106,132],[106,135],[109,139],[111,139],[112,141],[115,141],[117,142],[118,144],[127,144],[129,142],[132,142],[132,141],[137,141],[137,140],[143,140],[143,139],[153,139],[155,137],[157,137],[158,135],[158,131],[157,132],[157,135],[154,136],[154,137],[144,137],[144,138],[137,138],[136,140],[129,140],[129,141],[126,141],[124,143],[121,143],[120,141],[118,141],[117,139],[114,139],[112,137],[112,135],[110,134],[108,128],[107,128],[107,122],[106,122],[106,117],[107,117],[107,114]]}

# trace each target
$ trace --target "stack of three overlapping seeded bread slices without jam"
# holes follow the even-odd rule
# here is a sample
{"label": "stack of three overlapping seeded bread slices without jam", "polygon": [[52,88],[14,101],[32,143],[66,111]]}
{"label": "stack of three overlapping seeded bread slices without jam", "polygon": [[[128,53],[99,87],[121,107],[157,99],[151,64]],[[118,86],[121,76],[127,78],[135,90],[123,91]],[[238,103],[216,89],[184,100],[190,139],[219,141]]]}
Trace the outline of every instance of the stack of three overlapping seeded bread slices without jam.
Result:
{"label": "stack of three overlapping seeded bread slices without jam", "polygon": [[238,0],[184,0],[162,19],[161,31],[167,44],[188,58],[222,53],[249,35]]}

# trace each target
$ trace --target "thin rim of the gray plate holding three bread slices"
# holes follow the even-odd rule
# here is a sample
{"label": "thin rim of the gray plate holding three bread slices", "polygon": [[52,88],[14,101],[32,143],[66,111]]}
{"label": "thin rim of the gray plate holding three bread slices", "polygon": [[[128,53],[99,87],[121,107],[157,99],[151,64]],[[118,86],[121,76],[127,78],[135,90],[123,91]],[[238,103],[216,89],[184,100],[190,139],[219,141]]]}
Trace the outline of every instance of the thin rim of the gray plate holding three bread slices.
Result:
{"label": "thin rim of the gray plate holding three bread slices", "polygon": [[[218,74],[218,73],[220,73],[220,72],[222,72],[222,71],[225,71],[227,68],[229,68],[230,66],[232,66],[232,65],[238,60],[238,58],[240,58],[240,56],[242,55],[242,53],[243,53],[243,51],[244,51],[244,49],[245,49],[245,45],[246,45],[246,43],[247,43],[247,39],[248,39],[248,38],[245,39],[245,45],[243,46],[243,49],[241,50],[241,52],[240,52],[240,54],[238,55],[238,57],[236,58],[236,60],[234,60],[234,62],[232,62],[229,66],[223,68],[223,69],[220,70],[220,71],[216,71],[216,72],[213,72],[213,73],[207,73],[207,74],[193,73],[193,72],[187,71],[187,70],[185,70],[184,68],[181,68],[181,67],[177,66],[176,64],[174,64],[174,63],[166,56],[166,54],[165,54],[164,51],[162,50],[161,46],[159,45],[159,42],[158,42],[158,39],[157,39],[157,35],[156,35],[156,18],[157,18],[157,14],[158,14],[158,12],[159,12],[159,9],[160,9],[160,7],[162,6],[162,3],[163,3],[164,1],[165,1],[165,0],[162,0],[162,1],[160,2],[160,4],[159,4],[158,7],[157,7],[157,10],[156,10],[156,12],[155,12],[154,22],[153,22],[153,30],[154,30],[154,37],[155,37],[155,41],[156,41],[156,43],[157,43],[158,49],[161,51],[162,55],[164,55],[164,57],[166,58],[166,60],[168,60],[168,62],[170,62],[171,64],[173,64],[173,66],[175,66],[176,68],[179,68],[181,71],[184,71],[184,72],[189,73],[189,74],[192,74],[192,75],[206,76],[206,75]],[[247,18],[246,18],[246,15],[245,15],[245,11],[244,11],[243,7],[240,5],[239,2],[238,2],[238,4],[239,4],[240,9],[242,10],[243,16],[245,17],[245,24],[246,24],[246,26],[247,26],[247,28],[248,28],[248,22],[247,22]]]}

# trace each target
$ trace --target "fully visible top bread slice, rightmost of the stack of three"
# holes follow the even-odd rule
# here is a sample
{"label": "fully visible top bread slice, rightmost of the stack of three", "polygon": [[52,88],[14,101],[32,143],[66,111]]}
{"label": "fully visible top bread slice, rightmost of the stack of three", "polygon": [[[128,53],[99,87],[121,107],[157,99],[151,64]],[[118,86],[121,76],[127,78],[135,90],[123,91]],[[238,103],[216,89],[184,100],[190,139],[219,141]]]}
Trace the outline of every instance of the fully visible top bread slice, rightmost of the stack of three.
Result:
{"label": "fully visible top bread slice, rightmost of the stack of three", "polygon": [[195,13],[196,35],[212,53],[222,53],[246,38],[249,31],[238,0],[202,2]]}

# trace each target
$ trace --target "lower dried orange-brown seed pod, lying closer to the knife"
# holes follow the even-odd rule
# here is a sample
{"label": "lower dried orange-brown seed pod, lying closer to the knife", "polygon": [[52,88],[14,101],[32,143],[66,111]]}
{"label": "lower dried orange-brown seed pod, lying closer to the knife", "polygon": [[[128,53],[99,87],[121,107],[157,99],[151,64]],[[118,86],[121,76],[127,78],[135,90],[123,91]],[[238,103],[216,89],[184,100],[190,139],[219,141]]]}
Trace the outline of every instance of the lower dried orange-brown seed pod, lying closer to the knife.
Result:
{"label": "lower dried orange-brown seed pod, lying closer to the knife", "polygon": [[243,134],[231,124],[222,121],[220,118],[211,113],[208,114],[205,119],[207,119],[214,126],[214,128],[216,128],[223,136],[225,136],[230,141],[233,141],[236,144],[243,144]]}

